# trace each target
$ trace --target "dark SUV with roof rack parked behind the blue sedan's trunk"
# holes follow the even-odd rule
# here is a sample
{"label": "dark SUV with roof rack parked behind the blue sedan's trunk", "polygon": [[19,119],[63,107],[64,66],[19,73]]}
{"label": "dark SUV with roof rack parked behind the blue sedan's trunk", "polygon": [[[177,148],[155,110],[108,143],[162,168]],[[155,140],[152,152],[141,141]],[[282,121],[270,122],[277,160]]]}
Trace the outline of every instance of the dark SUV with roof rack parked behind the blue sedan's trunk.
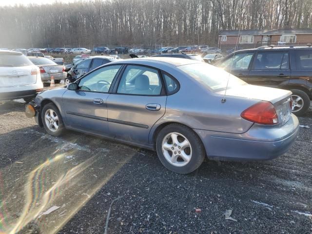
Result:
{"label": "dark SUV with roof rack parked behind the blue sedan's trunk", "polygon": [[312,100],[312,47],[263,46],[240,50],[215,66],[231,71],[249,84],[292,91],[292,113],[304,115]]}

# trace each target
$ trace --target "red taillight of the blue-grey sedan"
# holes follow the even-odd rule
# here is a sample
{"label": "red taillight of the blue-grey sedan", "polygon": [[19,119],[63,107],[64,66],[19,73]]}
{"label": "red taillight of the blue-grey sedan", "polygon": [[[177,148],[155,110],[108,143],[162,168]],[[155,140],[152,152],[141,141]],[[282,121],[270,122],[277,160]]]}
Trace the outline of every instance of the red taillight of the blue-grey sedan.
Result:
{"label": "red taillight of the blue-grey sedan", "polygon": [[240,115],[242,118],[260,124],[277,124],[278,118],[273,104],[269,101],[260,101],[249,107]]}

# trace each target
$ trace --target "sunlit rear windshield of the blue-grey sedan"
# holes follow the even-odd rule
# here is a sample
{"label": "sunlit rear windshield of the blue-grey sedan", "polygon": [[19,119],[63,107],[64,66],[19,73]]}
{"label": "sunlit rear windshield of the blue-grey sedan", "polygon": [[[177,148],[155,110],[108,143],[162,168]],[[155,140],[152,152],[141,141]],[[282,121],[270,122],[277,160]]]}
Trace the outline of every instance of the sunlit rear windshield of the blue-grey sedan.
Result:
{"label": "sunlit rear windshield of the blue-grey sedan", "polygon": [[228,88],[246,84],[230,73],[205,63],[187,64],[178,68],[214,92],[225,90],[228,81]]}

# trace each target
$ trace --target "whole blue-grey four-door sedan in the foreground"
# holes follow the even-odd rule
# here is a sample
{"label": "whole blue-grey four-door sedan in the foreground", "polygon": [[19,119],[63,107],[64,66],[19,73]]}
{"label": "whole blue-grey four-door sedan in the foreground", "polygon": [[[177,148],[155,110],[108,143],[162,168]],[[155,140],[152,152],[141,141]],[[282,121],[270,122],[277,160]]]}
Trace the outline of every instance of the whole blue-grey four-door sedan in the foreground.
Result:
{"label": "whole blue-grey four-door sedan in the foreground", "polygon": [[26,106],[48,134],[66,129],[156,150],[186,174],[211,159],[263,160],[285,153],[298,132],[291,92],[249,85],[189,59],[118,60]]}

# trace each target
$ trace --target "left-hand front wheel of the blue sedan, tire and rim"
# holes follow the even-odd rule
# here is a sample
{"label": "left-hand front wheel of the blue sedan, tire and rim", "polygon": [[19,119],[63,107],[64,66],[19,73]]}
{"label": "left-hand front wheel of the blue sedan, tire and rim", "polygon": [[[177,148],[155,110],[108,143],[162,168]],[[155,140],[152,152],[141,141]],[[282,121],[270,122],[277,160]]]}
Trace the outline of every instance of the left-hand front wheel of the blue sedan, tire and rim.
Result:
{"label": "left-hand front wheel of the blue sedan, tire and rim", "polygon": [[48,103],[43,106],[41,119],[48,134],[58,137],[65,131],[59,109],[53,103]]}

